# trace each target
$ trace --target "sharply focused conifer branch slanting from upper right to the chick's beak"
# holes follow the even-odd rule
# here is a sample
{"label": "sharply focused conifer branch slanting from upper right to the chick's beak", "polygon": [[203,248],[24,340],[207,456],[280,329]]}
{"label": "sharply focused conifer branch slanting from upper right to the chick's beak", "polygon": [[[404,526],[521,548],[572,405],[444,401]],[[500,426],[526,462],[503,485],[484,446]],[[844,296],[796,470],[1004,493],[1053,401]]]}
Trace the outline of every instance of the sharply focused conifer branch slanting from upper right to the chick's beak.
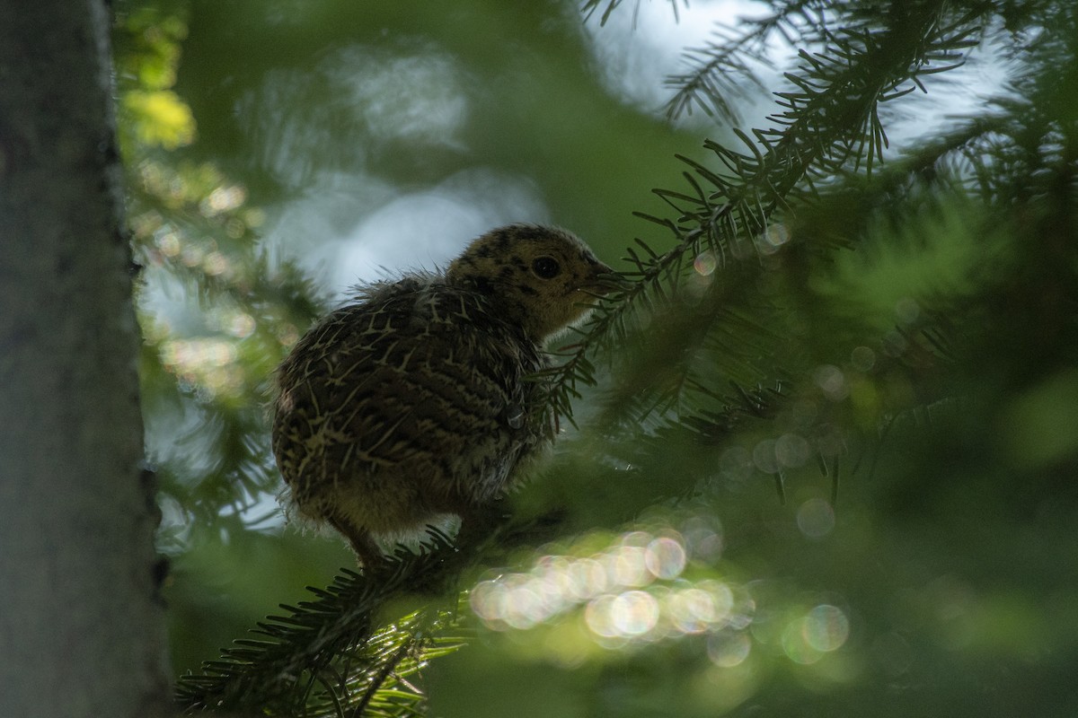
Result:
{"label": "sharply focused conifer branch slanting from upper right to the chick's beak", "polygon": [[[723,270],[716,274],[715,284],[721,281],[724,286],[708,290],[707,304],[717,312],[750,293],[746,290],[751,278],[761,270],[747,261],[756,259],[752,248],[776,223],[776,215],[812,201],[818,196],[817,184],[833,177],[849,172],[871,177],[887,144],[879,103],[901,97],[920,83],[921,75],[938,71],[932,62],[944,61],[942,69],[958,67],[960,53],[976,44],[972,38],[979,16],[942,23],[946,8],[943,1],[892,5],[882,27],[828,30],[832,45],[819,53],[801,51],[798,73],[787,73],[794,89],[779,94],[782,110],[771,117],[772,126],[752,130],[751,137],[737,131],[744,149],[705,143],[721,169],[680,158],[690,168],[685,177],[691,192],[654,191],[677,212],[677,221],[641,215],[671,229],[677,243],[662,254],[642,242],[644,253],[630,248],[634,269],[626,277],[631,285],[598,305],[563,363],[545,374],[549,406],[572,421],[570,398],[578,395],[578,385],[595,382],[594,366],[585,354],[614,339],[623,340],[627,319],[641,308],[654,313],[657,300],[668,304],[666,287],[676,291],[703,252],[713,253],[716,272]],[[731,272],[735,265],[742,271]],[[718,330],[715,322],[734,316],[713,314],[714,322],[697,322],[671,337],[676,346],[664,351],[677,353],[683,351],[677,346],[700,346],[705,335]],[[757,370],[764,376],[773,371]],[[680,378],[671,377],[673,388],[651,393],[648,411],[675,407],[683,392],[701,394],[699,388],[707,382],[690,381],[687,371],[691,368]],[[647,383],[623,382],[622,386],[628,393],[648,394],[641,389]]]}

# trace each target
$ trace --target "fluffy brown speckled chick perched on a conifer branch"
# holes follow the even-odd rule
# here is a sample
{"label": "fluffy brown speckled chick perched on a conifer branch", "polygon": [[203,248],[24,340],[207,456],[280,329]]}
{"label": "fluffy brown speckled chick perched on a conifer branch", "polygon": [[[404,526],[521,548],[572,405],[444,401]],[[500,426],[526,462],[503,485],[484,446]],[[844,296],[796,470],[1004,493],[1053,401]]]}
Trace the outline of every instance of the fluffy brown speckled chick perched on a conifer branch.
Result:
{"label": "fluffy brown speckled chick perched on a conifer branch", "polygon": [[289,510],[360,564],[460,520],[458,543],[554,441],[545,342],[618,274],[568,230],[492,229],[444,270],[354,288],[275,375],[272,446]]}

